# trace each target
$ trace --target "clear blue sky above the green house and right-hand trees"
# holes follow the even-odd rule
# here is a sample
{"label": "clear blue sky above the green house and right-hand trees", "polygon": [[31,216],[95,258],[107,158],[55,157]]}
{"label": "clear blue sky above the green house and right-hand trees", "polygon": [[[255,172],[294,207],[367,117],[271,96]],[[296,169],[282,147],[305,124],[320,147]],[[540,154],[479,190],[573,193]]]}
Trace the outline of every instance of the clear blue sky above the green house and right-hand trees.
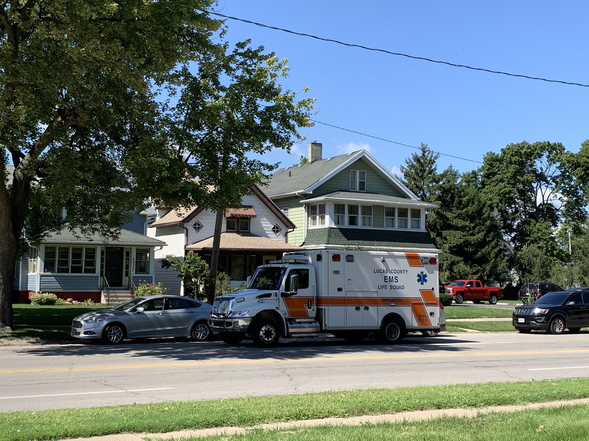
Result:
{"label": "clear blue sky above the green house and right-hand trees", "polygon": [[[493,71],[589,84],[589,2],[227,0],[216,11],[350,44]],[[309,87],[313,119],[442,153],[438,170],[478,168],[485,153],[521,141],[589,139],[589,88],[349,48],[227,20],[227,40],[252,39],[289,60],[284,88]],[[323,143],[323,157],[366,148],[393,172],[415,148],[316,123],[300,131]],[[290,166],[306,156],[264,157]],[[450,156],[446,156],[450,155]],[[457,156],[457,159],[451,156]],[[469,161],[467,161],[467,159]]]}

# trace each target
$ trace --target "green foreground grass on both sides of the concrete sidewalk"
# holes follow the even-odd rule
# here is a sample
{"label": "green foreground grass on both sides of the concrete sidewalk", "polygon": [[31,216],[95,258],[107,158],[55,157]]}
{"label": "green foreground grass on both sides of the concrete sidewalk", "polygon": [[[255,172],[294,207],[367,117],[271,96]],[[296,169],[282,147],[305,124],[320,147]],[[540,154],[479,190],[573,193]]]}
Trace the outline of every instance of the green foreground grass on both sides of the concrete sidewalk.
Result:
{"label": "green foreground grass on both sides of the concrete sidewalk", "polygon": [[[587,397],[589,397],[589,379],[569,379],[348,390],[199,402],[163,402],[148,405],[93,407],[91,409],[10,412],[0,413],[0,441],[64,439],[112,433],[162,433],[172,430],[202,429],[205,427],[244,427],[260,423],[325,417],[382,415],[425,409],[523,405],[526,403]],[[408,426],[371,426],[368,430],[369,432],[375,430],[374,435],[367,436],[369,436],[369,439],[503,440],[507,439],[504,435],[505,431],[511,430],[512,439],[518,440],[586,440],[586,437],[576,437],[577,432],[571,432],[571,437],[559,438],[555,434],[559,433],[558,430],[561,430],[562,424],[564,424],[557,424],[558,416],[560,416],[562,421],[569,422],[570,427],[585,427],[583,433],[586,436],[586,427],[589,425],[589,412],[587,410],[588,406],[580,406],[580,409],[567,407],[562,413],[558,409],[552,409],[546,412],[526,411],[520,416],[515,414],[505,414],[505,416],[495,414],[495,419],[484,416],[473,419],[445,418],[439,422],[434,422],[434,425],[430,426],[446,426],[441,432],[444,437],[441,438],[436,437],[438,433],[435,431],[428,435],[429,438],[422,437],[423,433],[427,432],[426,426],[422,426],[422,424],[432,422],[407,423]],[[555,415],[554,419],[550,415]],[[499,422],[502,422],[502,424],[499,424]],[[541,430],[540,435],[539,432],[536,432],[536,429],[539,429],[542,424],[545,425],[547,434],[550,436],[546,436],[543,430]],[[506,427],[499,430],[499,426],[502,425]],[[393,432],[383,436],[385,433],[383,430],[386,431],[386,426],[391,426]],[[415,428],[410,429],[411,427]],[[485,429],[482,429],[484,432],[479,432],[479,437],[475,436],[477,427],[479,427],[479,430],[485,427]],[[495,429],[499,430],[498,433],[501,436],[487,437],[489,433],[494,433],[488,432],[488,430],[494,431]],[[260,433],[257,437],[246,437],[244,439],[284,439],[284,437],[290,439],[291,435],[296,435],[296,439],[323,439],[322,434],[329,433],[329,430],[333,429],[309,430],[312,430],[312,432],[309,432],[310,435],[307,437],[300,437],[302,435],[297,430],[287,434],[280,432]],[[327,432],[323,432],[324,430],[327,430]],[[350,432],[347,432],[348,430]],[[338,429],[337,433],[342,435],[339,439],[364,440],[364,436],[358,436],[359,432],[357,430],[357,428],[342,428]],[[406,430],[409,430],[409,432],[407,433]],[[350,436],[343,436],[345,433],[349,433]],[[399,433],[399,437],[393,436],[396,433]],[[452,434],[454,438],[450,437]],[[269,435],[269,437],[266,438],[265,435]]]}

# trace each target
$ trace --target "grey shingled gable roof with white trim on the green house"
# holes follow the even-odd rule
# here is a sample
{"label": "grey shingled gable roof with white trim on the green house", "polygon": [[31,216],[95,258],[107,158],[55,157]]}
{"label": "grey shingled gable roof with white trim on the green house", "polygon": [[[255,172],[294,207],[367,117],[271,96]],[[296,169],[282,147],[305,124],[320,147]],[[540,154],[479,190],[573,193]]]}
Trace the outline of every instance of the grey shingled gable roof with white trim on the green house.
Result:
{"label": "grey shingled gable roof with white trim on the green house", "polygon": [[370,153],[362,149],[345,155],[333,156],[333,158],[317,159],[302,165],[293,165],[289,168],[280,169],[270,176],[268,185],[264,192],[270,198],[276,199],[286,196],[313,193],[317,187],[329,181],[337,173],[364,158],[366,162],[375,169],[383,178],[388,179],[391,185],[395,185],[408,199],[417,201],[418,198],[410,191],[399,178],[382,166]]}

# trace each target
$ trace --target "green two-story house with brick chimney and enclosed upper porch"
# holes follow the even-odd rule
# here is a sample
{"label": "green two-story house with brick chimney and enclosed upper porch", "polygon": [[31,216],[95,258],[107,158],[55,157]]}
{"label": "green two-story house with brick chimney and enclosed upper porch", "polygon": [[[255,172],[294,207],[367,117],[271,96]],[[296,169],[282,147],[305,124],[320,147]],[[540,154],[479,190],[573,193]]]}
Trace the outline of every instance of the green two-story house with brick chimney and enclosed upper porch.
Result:
{"label": "green two-story house with brick chimney and enclosed upper porch", "polygon": [[425,212],[399,178],[366,150],[322,158],[309,143],[308,162],[276,171],[264,193],[296,225],[288,242],[309,249],[437,252]]}

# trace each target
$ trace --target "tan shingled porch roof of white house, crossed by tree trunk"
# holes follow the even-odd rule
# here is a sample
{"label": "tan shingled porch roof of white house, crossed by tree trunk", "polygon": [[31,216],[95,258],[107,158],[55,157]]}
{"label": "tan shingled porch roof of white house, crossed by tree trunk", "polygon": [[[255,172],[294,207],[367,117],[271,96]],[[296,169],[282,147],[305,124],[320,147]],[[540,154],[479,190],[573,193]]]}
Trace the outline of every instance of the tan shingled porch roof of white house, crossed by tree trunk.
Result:
{"label": "tan shingled porch roof of white house, crossed by tree trunk", "polygon": [[[201,251],[213,249],[213,236],[208,239],[200,240],[199,242],[191,243],[186,246],[188,251]],[[300,246],[290,245],[290,243],[279,242],[256,236],[252,233],[221,233],[220,249],[224,251],[264,251],[264,250],[278,250],[280,252],[301,250]]]}

